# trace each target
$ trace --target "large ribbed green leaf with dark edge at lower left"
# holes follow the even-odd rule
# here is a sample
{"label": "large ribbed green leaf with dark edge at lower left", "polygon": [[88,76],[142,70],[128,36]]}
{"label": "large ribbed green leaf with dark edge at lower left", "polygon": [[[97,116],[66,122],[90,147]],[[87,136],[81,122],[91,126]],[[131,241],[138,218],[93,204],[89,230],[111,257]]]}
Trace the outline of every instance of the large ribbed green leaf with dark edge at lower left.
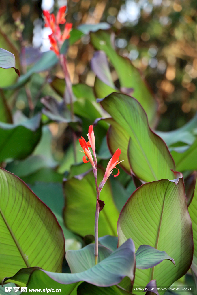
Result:
{"label": "large ribbed green leaf with dark edge at lower left", "polygon": [[0,188],[0,279],[30,266],[61,271],[64,236],[51,210],[2,169]]}

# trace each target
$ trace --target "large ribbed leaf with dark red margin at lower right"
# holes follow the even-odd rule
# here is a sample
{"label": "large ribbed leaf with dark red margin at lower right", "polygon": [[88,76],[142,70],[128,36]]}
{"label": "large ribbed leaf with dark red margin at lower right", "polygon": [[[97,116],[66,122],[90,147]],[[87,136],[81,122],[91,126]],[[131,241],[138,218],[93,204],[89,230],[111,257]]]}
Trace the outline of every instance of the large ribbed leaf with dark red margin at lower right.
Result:
{"label": "large ribbed leaf with dark red margin at lower right", "polygon": [[165,251],[176,264],[165,260],[151,269],[136,269],[134,286],[157,279],[157,286],[167,287],[188,271],[193,238],[183,178],[177,184],[167,179],[145,183],[132,194],[118,220],[118,245],[129,237],[136,248],[150,245]]}

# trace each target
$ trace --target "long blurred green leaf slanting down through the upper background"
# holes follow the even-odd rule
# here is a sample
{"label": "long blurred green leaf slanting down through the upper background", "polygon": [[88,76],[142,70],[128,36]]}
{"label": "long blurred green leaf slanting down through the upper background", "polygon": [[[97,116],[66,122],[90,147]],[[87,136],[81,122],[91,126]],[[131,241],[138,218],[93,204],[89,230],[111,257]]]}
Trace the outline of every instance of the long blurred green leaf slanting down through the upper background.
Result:
{"label": "long blurred green leaf slanting down through the upper background", "polygon": [[104,31],[98,31],[91,33],[91,42],[97,50],[103,50],[110,62],[113,64],[121,87],[133,88],[134,96],[144,108],[150,126],[154,126],[156,123],[157,103],[153,94],[149,91],[143,79],[140,76],[139,71],[131,64],[131,62],[118,55],[111,45],[110,35]]}

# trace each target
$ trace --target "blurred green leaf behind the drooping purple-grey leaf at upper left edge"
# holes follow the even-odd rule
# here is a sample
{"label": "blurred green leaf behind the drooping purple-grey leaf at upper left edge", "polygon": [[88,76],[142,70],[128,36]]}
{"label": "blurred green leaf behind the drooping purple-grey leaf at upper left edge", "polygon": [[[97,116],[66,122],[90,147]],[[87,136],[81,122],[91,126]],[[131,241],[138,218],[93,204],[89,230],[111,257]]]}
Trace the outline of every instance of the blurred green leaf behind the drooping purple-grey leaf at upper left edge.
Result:
{"label": "blurred green leaf behind the drooping purple-grey leaf at upper left edge", "polygon": [[[14,57],[16,59],[16,65],[14,65],[14,67],[16,66],[16,68],[20,69],[19,52],[17,48],[9,40],[7,35],[1,30],[0,30],[0,47],[9,51],[11,54],[14,54]],[[3,88],[3,87],[12,85],[16,81],[18,75],[14,72],[12,68],[9,68],[9,69],[0,68],[0,77],[1,77],[0,88]]]}

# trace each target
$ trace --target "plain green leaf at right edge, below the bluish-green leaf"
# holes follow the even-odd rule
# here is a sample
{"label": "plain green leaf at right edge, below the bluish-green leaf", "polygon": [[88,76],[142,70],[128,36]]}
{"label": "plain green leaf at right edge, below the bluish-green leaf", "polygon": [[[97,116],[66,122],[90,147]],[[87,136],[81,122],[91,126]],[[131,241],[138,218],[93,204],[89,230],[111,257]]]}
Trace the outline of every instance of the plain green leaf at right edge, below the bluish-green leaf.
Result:
{"label": "plain green leaf at right edge, below the bluish-green leaf", "polygon": [[177,171],[196,170],[197,169],[197,139],[184,153],[171,151],[175,161]]}

